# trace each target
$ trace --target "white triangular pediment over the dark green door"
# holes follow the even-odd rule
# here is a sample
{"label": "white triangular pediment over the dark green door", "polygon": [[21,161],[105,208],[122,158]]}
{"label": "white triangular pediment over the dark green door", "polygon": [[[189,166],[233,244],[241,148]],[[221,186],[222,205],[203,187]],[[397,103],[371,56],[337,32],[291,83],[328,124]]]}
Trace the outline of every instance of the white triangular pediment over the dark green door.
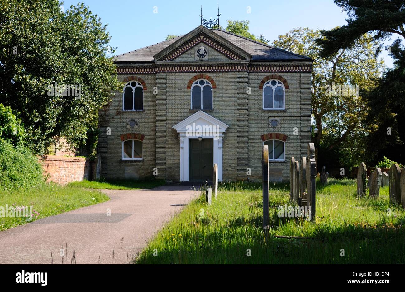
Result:
{"label": "white triangular pediment over the dark green door", "polygon": [[207,114],[206,112],[199,110],[195,114],[192,114],[191,116],[185,118],[180,123],[174,125],[173,129],[176,129],[177,133],[185,133],[190,129],[190,127],[197,127],[197,126],[201,127],[215,126],[214,129],[222,133],[225,132],[226,129],[229,127],[228,125],[222,123],[217,118],[214,118],[213,116]]}

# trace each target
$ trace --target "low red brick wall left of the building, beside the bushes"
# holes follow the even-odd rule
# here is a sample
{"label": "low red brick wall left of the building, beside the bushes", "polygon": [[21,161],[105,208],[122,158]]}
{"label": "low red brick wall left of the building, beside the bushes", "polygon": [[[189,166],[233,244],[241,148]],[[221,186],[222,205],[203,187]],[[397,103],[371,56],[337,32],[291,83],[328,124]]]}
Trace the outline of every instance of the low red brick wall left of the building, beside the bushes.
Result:
{"label": "low red brick wall left of the building, beside the bushes", "polygon": [[67,184],[92,179],[94,163],[83,157],[43,155],[39,161],[44,171],[49,174],[48,181]]}

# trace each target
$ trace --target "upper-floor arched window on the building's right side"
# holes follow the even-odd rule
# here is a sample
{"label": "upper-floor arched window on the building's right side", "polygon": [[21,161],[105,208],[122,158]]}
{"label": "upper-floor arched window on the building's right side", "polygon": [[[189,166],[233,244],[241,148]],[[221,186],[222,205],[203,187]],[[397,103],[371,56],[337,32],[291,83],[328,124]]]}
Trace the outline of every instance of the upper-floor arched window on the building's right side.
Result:
{"label": "upper-floor arched window on the building's right side", "polygon": [[272,79],[263,85],[263,109],[283,110],[285,109],[285,88],[280,80]]}

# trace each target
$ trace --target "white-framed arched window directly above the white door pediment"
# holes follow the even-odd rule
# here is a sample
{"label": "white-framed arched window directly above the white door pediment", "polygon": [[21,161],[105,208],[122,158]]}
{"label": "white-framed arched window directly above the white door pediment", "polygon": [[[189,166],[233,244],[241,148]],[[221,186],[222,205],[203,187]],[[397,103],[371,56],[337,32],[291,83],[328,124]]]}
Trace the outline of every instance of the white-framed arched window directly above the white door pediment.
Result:
{"label": "white-framed arched window directly above the white door pediment", "polygon": [[191,87],[191,108],[193,110],[212,109],[212,85],[208,80],[194,81]]}

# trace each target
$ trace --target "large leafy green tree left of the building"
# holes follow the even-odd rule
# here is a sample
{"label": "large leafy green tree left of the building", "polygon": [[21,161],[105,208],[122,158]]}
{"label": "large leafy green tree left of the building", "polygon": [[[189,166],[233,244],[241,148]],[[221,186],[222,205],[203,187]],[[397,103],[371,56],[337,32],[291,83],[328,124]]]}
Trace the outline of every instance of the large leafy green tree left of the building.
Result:
{"label": "large leafy green tree left of the building", "polygon": [[[87,138],[91,115],[119,89],[110,36],[83,4],[62,12],[58,0],[0,3],[0,99],[20,113],[35,153],[56,135],[73,146]],[[76,85],[76,95],[50,85]],[[64,89],[62,89],[64,91]]]}

